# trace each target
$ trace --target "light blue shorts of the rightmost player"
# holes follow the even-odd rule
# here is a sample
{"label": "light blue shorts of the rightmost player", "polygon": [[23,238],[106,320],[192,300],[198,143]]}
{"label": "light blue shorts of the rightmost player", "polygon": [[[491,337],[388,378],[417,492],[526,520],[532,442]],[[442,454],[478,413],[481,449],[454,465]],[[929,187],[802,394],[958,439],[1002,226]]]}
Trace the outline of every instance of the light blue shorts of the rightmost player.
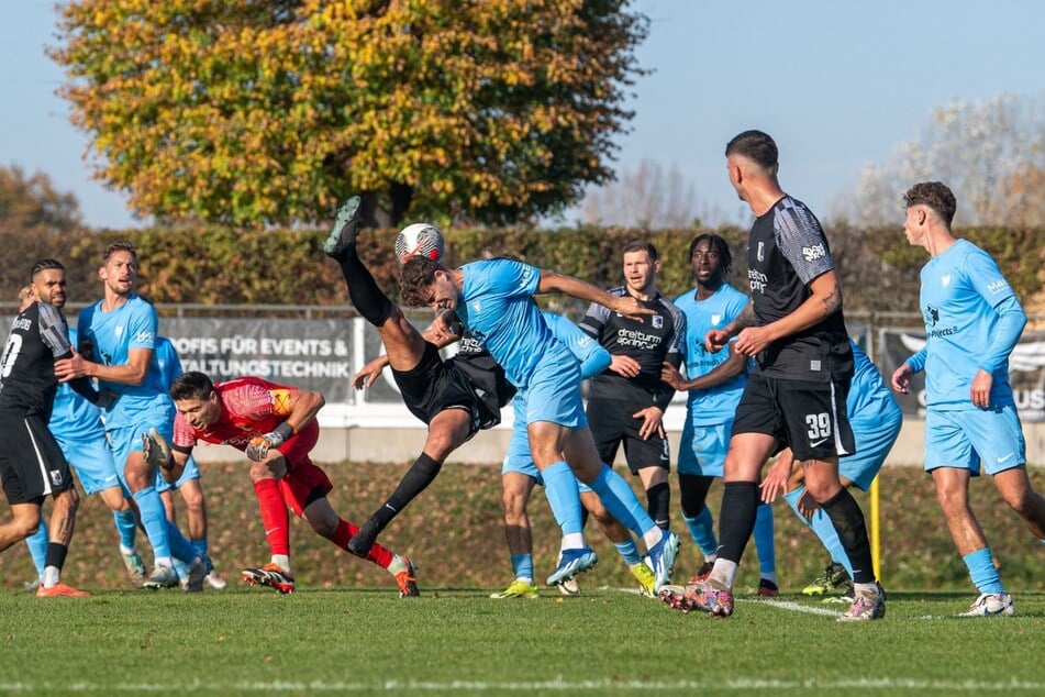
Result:
{"label": "light blue shorts of the rightmost player", "polygon": [[1015,407],[930,409],[925,414],[925,471],[959,467],[978,477],[981,463],[989,475],[1026,463],[1026,442]]}

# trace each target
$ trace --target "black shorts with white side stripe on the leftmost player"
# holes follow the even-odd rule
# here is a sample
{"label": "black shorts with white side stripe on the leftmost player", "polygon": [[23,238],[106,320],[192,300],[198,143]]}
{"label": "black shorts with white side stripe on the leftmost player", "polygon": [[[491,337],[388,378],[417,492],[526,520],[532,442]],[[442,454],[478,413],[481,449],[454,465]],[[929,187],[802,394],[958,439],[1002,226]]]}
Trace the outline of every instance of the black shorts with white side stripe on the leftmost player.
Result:
{"label": "black shorts with white side stripe on the leftmost player", "polygon": [[0,413],[0,477],[9,504],[40,504],[73,488],[69,463],[43,417]]}

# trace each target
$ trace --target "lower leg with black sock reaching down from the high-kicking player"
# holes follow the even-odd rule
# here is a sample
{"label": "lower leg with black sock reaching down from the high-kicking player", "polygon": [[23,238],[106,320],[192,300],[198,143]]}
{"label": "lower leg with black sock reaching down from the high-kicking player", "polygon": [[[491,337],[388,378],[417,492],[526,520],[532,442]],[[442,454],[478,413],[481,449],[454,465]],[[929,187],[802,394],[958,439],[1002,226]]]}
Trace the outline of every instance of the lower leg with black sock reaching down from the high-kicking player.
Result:
{"label": "lower leg with black sock reaching down from the high-kicking player", "polygon": [[465,409],[444,409],[429,421],[429,433],[421,455],[410,465],[392,495],[363,523],[348,549],[366,556],[385,528],[435,480],[443,461],[474,433],[473,413]]}

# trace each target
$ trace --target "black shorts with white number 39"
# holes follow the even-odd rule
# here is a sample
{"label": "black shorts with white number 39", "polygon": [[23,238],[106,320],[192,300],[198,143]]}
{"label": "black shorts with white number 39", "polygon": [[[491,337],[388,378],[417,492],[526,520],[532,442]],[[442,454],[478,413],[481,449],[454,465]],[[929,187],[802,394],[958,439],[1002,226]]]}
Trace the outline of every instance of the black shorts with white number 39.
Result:
{"label": "black shorts with white number 39", "polygon": [[733,435],[767,433],[794,458],[831,460],[856,452],[845,411],[849,380],[781,380],[754,373],[736,406]]}

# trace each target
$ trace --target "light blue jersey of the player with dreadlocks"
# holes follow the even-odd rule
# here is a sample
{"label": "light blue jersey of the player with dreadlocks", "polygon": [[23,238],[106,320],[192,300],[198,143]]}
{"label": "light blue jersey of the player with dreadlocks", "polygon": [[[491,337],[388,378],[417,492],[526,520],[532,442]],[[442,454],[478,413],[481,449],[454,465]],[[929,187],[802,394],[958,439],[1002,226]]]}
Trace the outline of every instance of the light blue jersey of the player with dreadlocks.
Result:
{"label": "light blue jersey of the player with dreadlocks", "polygon": [[[686,376],[689,379],[707,375],[730,357],[726,348],[710,353],[704,348],[704,338],[711,330],[723,329],[736,319],[748,302],[751,298],[729,284],[722,284],[714,295],[704,300],[697,300],[696,288],[675,299],[676,307],[686,314],[682,355],[686,361]],[[747,370],[721,385],[690,390],[686,400],[690,423],[703,425],[733,421],[749,372],[748,365]]]}

